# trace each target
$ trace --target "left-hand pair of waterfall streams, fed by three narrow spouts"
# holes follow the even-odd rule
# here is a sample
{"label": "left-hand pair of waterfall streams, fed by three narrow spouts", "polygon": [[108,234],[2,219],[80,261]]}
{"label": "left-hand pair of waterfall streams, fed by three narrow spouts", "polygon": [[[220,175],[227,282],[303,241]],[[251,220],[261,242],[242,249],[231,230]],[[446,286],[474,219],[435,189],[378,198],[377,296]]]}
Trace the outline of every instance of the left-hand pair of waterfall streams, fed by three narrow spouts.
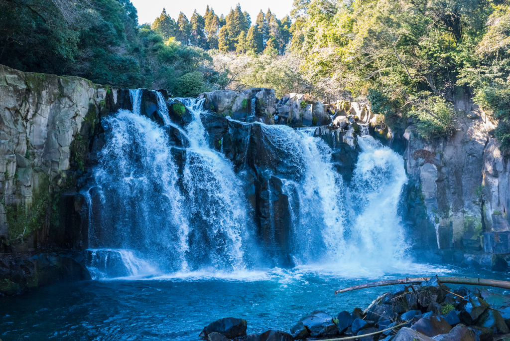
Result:
{"label": "left-hand pair of waterfall streams, fed by three narrow spouts", "polygon": [[[93,169],[95,184],[85,193],[93,212],[89,245],[94,256],[89,266],[99,278],[108,277],[104,269],[97,270],[97,264],[107,264],[101,259],[108,255],[119,261],[137,259],[135,263],[160,273],[243,269],[249,245],[245,200],[231,164],[209,148],[201,103],[183,100],[193,115],[183,130],[170,121],[157,93],[165,125],[178,129],[190,143],[180,174],[176,148],[168,144],[165,129],[140,115],[140,90],[132,90],[131,96],[133,112],[120,110],[104,122],[107,142]],[[123,268],[125,276],[142,273],[129,270],[127,263]]]}

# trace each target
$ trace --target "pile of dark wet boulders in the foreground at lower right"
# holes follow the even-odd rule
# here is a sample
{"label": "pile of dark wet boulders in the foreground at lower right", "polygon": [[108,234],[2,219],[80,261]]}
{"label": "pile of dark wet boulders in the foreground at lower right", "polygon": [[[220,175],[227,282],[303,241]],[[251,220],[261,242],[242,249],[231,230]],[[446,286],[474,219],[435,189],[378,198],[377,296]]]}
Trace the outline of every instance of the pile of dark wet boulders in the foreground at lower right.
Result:
{"label": "pile of dark wet boulders in the foreground at lower right", "polygon": [[507,341],[510,296],[486,288],[451,291],[437,277],[420,285],[396,285],[367,308],[337,316],[315,310],[290,330],[249,333],[249,322],[223,318],[200,333],[209,341],[293,341],[355,339],[358,341]]}

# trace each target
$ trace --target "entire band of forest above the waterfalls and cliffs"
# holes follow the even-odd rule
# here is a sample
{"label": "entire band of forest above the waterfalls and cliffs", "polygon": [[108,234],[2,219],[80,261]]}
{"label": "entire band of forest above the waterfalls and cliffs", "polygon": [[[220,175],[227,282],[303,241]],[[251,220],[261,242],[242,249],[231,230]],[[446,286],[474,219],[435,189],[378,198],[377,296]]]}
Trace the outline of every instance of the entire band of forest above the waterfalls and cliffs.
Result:
{"label": "entire band of forest above the waterfalls and cliffs", "polygon": [[175,96],[272,87],[370,104],[394,131],[452,133],[455,96],[499,120],[510,149],[510,7],[500,0],[295,0],[139,23],[129,0],[0,0],[0,63]]}

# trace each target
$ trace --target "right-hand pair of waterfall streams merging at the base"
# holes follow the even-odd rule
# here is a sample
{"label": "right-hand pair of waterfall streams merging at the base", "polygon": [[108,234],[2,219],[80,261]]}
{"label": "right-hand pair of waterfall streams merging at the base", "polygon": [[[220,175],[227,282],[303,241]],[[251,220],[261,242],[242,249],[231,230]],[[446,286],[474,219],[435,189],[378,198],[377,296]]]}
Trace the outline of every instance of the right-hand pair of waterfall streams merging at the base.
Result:
{"label": "right-hand pair of waterfall streams merging at the base", "polygon": [[275,175],[283,178],[282,191],[289,198],[292,252],[298,265],[390,266],[401,259],[408,246],[397,208],[407,177],[398,154],[362,126],[362,151],[348,187],[331,162],[334,151],[313,137],[315,128],[262,126],[272,149],[287,155],[286,167]]}

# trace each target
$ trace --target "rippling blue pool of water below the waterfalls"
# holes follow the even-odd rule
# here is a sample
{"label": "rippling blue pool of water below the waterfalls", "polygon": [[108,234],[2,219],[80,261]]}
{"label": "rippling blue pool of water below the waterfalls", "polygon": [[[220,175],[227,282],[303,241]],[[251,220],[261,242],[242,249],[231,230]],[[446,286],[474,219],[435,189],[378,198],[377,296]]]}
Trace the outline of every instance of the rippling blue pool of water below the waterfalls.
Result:
{"label": "rippling blue pool of water below the waterfalls", "polygon": [[337,288],[375,279],[430,274],[506,279],[490,272],[407,264],[405,271],[329,271],[302,267],[245,273],[186,273],[151,279],[63,283],[0,297],[0,338],[27,340],[199,340],[226,316],[248,321],[248,333],[288,330],[301,316],[366,307],[389,287],[341,294]]}

